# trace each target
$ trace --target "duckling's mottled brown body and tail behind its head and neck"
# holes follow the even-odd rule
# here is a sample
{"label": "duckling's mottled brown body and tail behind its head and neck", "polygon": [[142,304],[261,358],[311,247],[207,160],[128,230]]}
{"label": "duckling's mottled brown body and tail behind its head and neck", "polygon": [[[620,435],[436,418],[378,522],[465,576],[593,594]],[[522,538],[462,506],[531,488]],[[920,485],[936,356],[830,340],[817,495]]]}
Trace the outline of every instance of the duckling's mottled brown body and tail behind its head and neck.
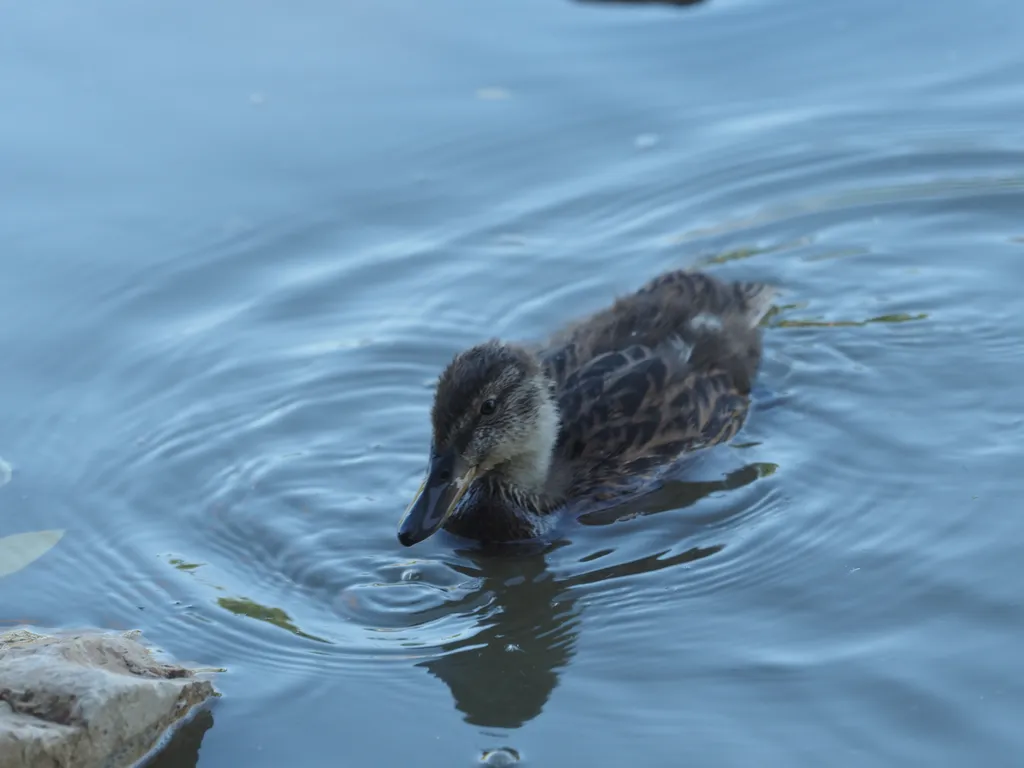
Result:
{"label": "duckling's mottled brown body and tail behind its head and neck", "polygon": [[557,456],[574,494],[631,484],[738,431],[774,293],[668,272],[549,341],[541,359],[557,391]]}

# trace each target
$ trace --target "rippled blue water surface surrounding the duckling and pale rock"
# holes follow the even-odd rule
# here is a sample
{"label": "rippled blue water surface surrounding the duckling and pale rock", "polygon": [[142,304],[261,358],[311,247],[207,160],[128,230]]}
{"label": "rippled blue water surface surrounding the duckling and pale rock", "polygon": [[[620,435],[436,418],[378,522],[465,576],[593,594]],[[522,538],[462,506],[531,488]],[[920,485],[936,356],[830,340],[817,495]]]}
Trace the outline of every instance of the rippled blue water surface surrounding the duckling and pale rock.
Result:
{"label": "rippled blue water surface surrounding the duckling and pale rock", "polygon": [[[0,621],[223,668],[165,766],[1020,765],[1022,40],[6,4],[0,537],[67,532]],[[783,288],[734,444],[547,551],[398,546],[456,350],[694,265]]]}

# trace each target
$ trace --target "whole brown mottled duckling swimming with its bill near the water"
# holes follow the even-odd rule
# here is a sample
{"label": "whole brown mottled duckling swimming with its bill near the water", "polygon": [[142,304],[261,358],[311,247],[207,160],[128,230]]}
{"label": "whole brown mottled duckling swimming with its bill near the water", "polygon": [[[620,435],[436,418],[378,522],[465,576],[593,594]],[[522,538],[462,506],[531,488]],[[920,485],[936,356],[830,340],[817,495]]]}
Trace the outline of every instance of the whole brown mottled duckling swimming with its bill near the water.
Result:
{"label": "whole brown mottled duckling swimming with its bill near the water", "polygon": [[460,352],[431,410],[426,477],[398,527],[536,539],[558,512],[652,489],[742,426],[775,289],[663,273],[546,343]]}

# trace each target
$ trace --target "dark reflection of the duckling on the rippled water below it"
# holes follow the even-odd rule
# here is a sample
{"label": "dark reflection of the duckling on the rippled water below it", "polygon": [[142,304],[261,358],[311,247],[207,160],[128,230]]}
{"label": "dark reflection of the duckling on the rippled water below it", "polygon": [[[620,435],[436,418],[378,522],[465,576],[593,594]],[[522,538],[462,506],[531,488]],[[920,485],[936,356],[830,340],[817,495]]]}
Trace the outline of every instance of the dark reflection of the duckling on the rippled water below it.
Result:
{"label": "dark reflection of the duckling on the rippled water below it", "polygon": [[[607,525],[695,504],[712,494],[733,490],[771,474],[773,465],[752,464],[719,481],[667,483],[642,506],[607,509],[581,522]],[[582,622],[575,590],[616,579],[653,573],[721,552],[725,545],[693,547],[645,555],[564,578],[549,568],[551,556],[570,546],[490,547],[459,550],[462,562],[451,567],[478,583],[462,604],[488,606],[476,631],[442,644],[441,655],[419,663],[452,692],[466,722],[487,728],[514,729],[541,714],[559,677],[575,653]],[[583,558],[586,562],[606,551]]]}

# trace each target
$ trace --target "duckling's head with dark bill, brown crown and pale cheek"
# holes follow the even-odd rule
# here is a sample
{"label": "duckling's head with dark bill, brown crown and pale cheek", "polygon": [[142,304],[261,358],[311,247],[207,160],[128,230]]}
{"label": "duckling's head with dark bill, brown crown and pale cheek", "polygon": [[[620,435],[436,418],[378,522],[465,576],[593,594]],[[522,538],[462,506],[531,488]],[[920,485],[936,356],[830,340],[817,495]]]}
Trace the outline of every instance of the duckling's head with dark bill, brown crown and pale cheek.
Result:
{"label": "duckling's head with dark bill, brown crown and pale cheek", "polygon": [[436,532],[470,483],[488,473],[543,490],[558,439],[558,406],[537,356],[498,341],[456,355],[437,382],[427,476],[406,513],[407,547]]}

